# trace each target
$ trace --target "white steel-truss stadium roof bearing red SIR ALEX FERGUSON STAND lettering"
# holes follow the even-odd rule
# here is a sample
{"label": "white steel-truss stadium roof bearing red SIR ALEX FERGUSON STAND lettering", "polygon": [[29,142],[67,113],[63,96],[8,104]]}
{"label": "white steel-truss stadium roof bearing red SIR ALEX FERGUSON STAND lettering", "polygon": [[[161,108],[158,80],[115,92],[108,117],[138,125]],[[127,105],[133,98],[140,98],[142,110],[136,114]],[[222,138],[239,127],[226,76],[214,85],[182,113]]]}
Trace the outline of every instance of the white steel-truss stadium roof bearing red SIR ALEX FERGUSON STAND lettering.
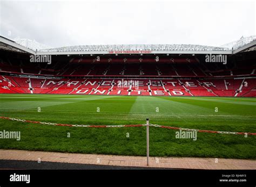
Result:
{"label": "white steel-truss stadium roof bearing red SIR ALEX FERGUSON STAND lettering", "polygon": [[[17,39],[16,42],[0,37],[0,44],[8,44],[31,54],[41,55],[79,55],[79,54],[235,54],[250,48],[255,49],[256,35],[242,37],[220,47],[184,44],[159,45],[79,45],[50,48],[35,40]],[[15,44],[13,44],[15,43]],[[25,47],[25,48],[24,48]]]}

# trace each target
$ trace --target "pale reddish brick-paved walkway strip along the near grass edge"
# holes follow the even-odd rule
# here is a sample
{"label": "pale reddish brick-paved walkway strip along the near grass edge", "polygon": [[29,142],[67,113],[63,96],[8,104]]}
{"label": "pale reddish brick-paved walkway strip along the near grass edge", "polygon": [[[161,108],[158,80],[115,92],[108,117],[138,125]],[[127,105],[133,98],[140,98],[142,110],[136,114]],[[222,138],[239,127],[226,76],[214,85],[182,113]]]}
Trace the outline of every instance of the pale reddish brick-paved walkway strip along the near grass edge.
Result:
{"label": "pale reddish brick-paved walkway strip along the near grass edge", "polygon": [[107,166],[175,169],[256,169],[256,160],[216,160],[215,158],[194,157],[150,157],[150,165],[146,166],[146,157],[144,156],[95,155],[5,149],[0,149],[0,160],[40,160],[41,162],[47,161],[80,164],[99,164]]}

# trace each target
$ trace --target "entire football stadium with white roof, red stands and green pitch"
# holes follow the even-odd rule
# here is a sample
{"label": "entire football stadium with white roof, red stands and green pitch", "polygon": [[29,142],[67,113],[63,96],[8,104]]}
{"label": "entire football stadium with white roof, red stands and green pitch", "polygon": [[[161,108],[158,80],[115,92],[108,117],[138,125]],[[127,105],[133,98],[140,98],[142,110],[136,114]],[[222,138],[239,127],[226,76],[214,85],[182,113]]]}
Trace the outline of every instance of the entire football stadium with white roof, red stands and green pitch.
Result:
{"label": "entire football stadium with white roof, red stands and green pitch", "polygon": [[0,38],[0,124],[22,133],[2,149],[146,156],[149,125],[150,156],[256,158],[255,35],[221,47],[42,46]]}

